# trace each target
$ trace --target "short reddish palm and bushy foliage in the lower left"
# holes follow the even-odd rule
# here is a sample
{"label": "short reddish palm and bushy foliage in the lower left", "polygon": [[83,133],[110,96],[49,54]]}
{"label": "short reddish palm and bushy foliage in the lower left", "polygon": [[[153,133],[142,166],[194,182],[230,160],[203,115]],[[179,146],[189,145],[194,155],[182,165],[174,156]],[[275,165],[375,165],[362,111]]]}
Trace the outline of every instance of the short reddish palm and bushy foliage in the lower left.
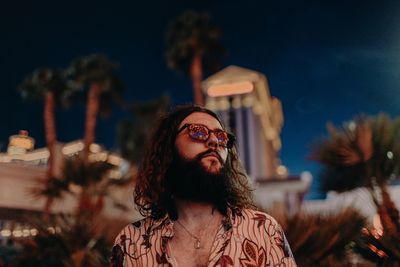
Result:
{"label": "short reddish palm and bushy foliage in the lower left", "polygon": [[128,210],[126,204],[113,199],[110,193],[115,187],[132,181],[131,177],[109,178],[115,166],[108,161],[108,157],[89,162],[79,156],[65,159],[62,176],[55,180],[57,183],[46,186],[41,192],[78,197],[75,212],[53,215],[45,223],[27,218],[25,222],[36,228],[38,234],[32,239],[19,240],[22,249],[10,266],[108,266],[112,240],[107,232],[114,230],[116,220],[111,222],[103,216],[103,200],[108,196],[114,208]]}

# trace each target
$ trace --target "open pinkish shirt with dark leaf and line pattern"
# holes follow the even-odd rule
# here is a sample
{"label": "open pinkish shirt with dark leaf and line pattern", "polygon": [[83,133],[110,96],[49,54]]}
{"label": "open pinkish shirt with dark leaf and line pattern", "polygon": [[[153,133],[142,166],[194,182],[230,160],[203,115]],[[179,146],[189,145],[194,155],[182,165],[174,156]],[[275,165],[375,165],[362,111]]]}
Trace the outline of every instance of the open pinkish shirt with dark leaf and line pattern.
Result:
{"label": "open pinkish shirt with dark leaf and line pattern", "polygon": [[[126,226],[115,239],[110,266],[176,266],[168,250],[173,221],[145,218]],[[266,213],[228,209],[218,229],[208,266],[296,266],[285,235]]]}

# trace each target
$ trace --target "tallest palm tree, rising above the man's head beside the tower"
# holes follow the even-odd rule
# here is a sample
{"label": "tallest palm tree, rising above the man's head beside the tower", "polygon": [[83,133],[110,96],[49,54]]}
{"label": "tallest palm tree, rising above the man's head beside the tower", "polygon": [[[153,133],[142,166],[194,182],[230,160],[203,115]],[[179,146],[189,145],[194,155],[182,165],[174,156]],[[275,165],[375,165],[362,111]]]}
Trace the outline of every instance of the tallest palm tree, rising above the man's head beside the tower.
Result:
{"label": "tallest palm tree, rising above the man's head beside the tower", "polygon": [[167,65],[189,74],[194,102],[204,105],[201,90],[203,69],[216,71],[218,57],[224,51],[220,44],[221,30],[211,24],[207,13],[186,11],[171,21],[166,33]]}

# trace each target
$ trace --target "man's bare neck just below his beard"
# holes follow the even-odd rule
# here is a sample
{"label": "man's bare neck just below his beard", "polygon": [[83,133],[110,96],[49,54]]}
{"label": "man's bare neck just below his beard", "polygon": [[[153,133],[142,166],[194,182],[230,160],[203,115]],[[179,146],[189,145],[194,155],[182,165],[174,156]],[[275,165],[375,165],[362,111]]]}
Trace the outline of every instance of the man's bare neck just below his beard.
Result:
{"label": "man's bare neck just below his beard", "polygon": [[191,202],[183,199],[175,199],[175,207],[178,220],[187,224],[208,223],[210,217],[222,216],[210,203]]}

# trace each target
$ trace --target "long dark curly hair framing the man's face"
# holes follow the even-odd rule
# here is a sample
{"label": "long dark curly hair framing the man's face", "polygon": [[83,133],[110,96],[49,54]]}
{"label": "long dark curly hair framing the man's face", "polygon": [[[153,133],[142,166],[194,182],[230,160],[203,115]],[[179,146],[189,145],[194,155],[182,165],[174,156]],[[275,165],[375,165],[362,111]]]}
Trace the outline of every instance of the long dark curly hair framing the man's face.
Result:
{"label": "long dark curly hair framing the man's face", "polygon": [[[207,113],[219,121],[218,116],[199,106],[180,106],[161,117],[149,139],[137,173],[134,200],[139,212],[145,217],[160,219],[169,214],[177,219],[171,193],[165,186],[165,174],[173,160],[175,137],[180,123],[194,112]],[[228,197],[225,206],[235,209],[254,208],[252,189],[245,170],[240,163],[236,146],[228,151],[226,169],[229,177]],[[222,208],[222,210],[226,210]]]}

